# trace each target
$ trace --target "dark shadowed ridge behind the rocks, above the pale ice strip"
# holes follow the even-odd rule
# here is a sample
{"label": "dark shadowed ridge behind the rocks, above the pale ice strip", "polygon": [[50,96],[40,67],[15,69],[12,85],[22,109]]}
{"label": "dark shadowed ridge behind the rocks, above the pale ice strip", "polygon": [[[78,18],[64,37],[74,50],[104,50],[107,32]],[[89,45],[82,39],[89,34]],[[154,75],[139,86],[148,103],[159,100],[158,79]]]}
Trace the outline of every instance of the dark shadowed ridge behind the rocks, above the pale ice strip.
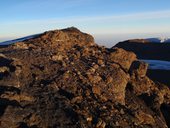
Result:
{"label": "dark shadowed ridge behind the rocks, above the pale ice strip", "polygon": [[170,61],[170,43],[153,43],[144,39],[119,42],[114,47],[134,52],[139,59]]}

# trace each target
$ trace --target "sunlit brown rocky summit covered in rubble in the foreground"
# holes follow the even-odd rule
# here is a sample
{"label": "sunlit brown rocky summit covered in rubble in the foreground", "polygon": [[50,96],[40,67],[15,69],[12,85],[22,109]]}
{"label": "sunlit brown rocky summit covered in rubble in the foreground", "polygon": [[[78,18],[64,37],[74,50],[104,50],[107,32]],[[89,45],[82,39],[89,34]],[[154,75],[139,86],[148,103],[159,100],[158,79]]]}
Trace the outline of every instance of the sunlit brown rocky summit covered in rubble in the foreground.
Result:
{"label": "sunlit brown rocky summit covered in rubble in the foreground", "polygon": [[0,48],[0,128],[168,128],[170,89],[133,52],[72,27]]}

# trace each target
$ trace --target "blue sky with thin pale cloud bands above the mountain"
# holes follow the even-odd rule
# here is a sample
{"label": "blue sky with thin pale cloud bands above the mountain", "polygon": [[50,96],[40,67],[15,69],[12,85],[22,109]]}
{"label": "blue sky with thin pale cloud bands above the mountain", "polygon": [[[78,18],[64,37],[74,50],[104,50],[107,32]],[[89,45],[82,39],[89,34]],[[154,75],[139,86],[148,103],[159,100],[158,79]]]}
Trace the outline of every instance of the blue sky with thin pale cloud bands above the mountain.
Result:
{"label": "blue sky with thin pale cloud bands above the mountain", "polygon": [[169,0],[1,0],[0,41],[69,26],[101,42],[170,36],[169,5]]}

